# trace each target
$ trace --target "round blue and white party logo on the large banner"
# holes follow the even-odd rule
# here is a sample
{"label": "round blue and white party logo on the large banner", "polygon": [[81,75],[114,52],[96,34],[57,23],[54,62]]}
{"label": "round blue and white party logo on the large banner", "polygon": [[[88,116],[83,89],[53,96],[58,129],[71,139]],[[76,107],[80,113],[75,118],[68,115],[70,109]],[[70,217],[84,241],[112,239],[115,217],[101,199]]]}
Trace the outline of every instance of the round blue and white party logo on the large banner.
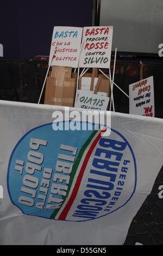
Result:
{"label": "round blue and white party logo on the large banner", "polygon": [[126,205],[136,190],[127,139],[110,129],[58,130],[45,124],[16,144],[8,166],[10,199],[23,214],[91,221]]}

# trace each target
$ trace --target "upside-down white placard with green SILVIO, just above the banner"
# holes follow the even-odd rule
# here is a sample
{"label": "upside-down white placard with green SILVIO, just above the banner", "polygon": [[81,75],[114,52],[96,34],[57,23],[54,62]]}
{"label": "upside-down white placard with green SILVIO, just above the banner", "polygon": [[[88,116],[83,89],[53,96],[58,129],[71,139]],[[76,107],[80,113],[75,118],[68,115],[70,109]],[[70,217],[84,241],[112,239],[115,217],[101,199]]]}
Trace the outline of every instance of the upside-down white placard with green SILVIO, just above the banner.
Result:
{"label": "upside-down white placard with green SILVIO, just above the banner", "polygon": [[78,100],[76,107],[86,109],[106,110],[109,103],[109,97],[99,94],[93,94],[87,90],[78,90]]}

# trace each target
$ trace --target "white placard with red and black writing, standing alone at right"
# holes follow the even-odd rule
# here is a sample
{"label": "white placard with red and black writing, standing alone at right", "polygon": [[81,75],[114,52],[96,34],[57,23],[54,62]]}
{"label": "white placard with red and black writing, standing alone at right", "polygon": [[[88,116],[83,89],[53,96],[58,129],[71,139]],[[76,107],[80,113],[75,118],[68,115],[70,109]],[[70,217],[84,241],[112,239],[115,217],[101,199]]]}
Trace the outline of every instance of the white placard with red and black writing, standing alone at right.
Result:
{"label": "white placard with red and black writing, standing alone at right", "polygon": [[153,76],[129,85],[129,113],[154,117]]}

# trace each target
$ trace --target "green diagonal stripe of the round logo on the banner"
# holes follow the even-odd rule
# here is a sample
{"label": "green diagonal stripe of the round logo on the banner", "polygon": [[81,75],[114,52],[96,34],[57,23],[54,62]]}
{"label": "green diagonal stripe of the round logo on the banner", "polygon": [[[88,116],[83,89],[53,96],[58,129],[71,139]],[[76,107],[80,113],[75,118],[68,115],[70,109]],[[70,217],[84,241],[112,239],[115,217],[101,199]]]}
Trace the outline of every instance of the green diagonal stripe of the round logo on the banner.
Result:
{"label": "green diagonal stripe of the round logo on the banner", "polygon": [[[91,136],[87,139],[87,141],[84,143],[83,147],[80,149],[80,152],[79,152],[79,154],[78,154],[78,156],[77,156],[77,159],[76,159],[76,161],[74,162],[74,165],[73,165],[73,168],[72,168],[72,172],[71,172],[71,176],[70,176],[70,183],[69,183],[69,185],[68,185],[68,190],[67,190],[66,196],[62,196],[62,199],[64,199],[63,202],[62,202],[62,204],[64,204],[66,198],[68,197],[68,194],[69,194],[69,192],[70,192],[70,189],[71,189],[71,186],[72,186],[72,182],[73,182],[74,176],[76,175],[76,172],[77,172],[79,163],[80,163],[80,161],[81,161],[81,159],[82,159],[82,157],[83,157],[84,151],[85,151],[85,149],[87,148],[87,146],[90,144],[92,138],[96,135],[97,132],[98,132],[98,130],[93,131],[92,134],[91,134]],[[60,208],[54,210],[54,212],[53,212],[53,214],[51,215],[50,218],[53,218],[53,219],[54,219],[55,216],[58,214],[59,210],[60,210]]]}

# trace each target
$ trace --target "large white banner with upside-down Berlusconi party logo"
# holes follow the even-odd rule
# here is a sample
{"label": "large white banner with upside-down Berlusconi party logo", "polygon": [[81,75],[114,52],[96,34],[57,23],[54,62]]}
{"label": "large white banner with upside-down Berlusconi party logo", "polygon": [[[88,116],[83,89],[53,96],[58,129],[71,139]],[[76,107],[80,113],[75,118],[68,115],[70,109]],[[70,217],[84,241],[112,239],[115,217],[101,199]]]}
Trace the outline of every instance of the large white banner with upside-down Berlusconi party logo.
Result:
{"label": "large white banner with upside-down Berlusconi party logo", "polygon": [[111,112],[108,135],[73,130],[64,107],[0,109],[1,244],[122,245],[162,166],[163,120]]}

